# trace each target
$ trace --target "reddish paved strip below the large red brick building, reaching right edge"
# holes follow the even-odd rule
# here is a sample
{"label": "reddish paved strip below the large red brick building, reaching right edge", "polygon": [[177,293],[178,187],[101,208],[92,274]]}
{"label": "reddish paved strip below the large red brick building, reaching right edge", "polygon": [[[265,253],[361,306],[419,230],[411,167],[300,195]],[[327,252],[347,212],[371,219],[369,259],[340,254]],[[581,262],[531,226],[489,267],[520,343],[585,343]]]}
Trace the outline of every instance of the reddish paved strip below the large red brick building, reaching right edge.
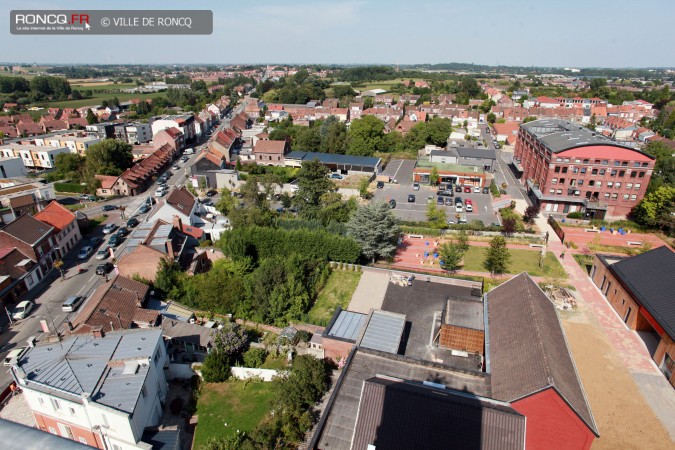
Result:
{"label": "reddish paved strip below the large red brick building, reaching right edge", "polygon": [[565,232],[565,242],[574,242],[579,246],[600,244],[616,247],[640,248],[643,245],[648,244],[652,248],[656,248],[661,247],[662,245],[668,245],[654,234],[627,232],[621,228],[613,229],[596,227],[594,229],[563,226],[562,229]]}

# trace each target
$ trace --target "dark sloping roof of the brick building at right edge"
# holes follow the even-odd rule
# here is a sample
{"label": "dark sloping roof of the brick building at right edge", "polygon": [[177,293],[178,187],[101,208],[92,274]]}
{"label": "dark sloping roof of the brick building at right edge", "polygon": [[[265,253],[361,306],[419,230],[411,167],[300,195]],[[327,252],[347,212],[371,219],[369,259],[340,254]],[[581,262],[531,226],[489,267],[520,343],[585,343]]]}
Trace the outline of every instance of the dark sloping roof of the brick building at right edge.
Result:
{"label": "dark sloping roof of the brick building at right edge", "polygon": [[664,245],[609,268],[675,339],[675,253]]}

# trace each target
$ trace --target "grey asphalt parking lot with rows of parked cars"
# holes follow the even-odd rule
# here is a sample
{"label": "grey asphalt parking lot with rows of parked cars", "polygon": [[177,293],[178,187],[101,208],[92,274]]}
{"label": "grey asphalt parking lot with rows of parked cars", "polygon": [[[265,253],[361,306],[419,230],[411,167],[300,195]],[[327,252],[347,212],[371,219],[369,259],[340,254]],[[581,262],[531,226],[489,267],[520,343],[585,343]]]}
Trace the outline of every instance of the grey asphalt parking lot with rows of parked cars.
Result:
{"label": "grey asphalt parking lot with rows of parked cars", "polygon": [[[388,202],[391,199],[396,200],[396,208],[393,209],[396,217],[402,220],[411,220],[417,222],[423,222],[427,220],[427,203],[433,202],[436,204],[436,187],[430,187],[421,185],[419,191],[413,191],[412,183],[402,183],[402,184],[387,184],[385,183],[384,188],[376,189],[374,198],[376,200],[381,200]],[[415,195],[415,202],[408,202],[408,195]],[[467,222],[472,220],[480,220],[485,225],[490,225],[492,223],[499,223],[497,216],[492,212],[492,196],[490,194],[481,193],[458,193],[454,192],[454,196],[459,196],[462,200],[471,199],[473,202],[473,212],[463,211],[463,214],[466,214]],[[438,205],[439,208],[445,211],[446,217],[456,221],[455,215],[455,197],[445,197],[450,198],[452,201],[451,205]]]}

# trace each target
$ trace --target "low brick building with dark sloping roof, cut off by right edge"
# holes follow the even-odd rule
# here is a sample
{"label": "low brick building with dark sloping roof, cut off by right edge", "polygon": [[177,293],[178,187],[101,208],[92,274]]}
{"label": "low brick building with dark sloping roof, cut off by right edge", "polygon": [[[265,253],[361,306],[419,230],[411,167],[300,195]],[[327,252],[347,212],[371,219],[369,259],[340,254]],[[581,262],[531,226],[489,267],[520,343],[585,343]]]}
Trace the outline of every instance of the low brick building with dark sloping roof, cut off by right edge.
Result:
{"label": "low brick building with dark sloping roof, cut off by right edge", "polygon": [[675,253],[666,246],[630,258],[595,255],[591,278],[645,342],[675,387]]}

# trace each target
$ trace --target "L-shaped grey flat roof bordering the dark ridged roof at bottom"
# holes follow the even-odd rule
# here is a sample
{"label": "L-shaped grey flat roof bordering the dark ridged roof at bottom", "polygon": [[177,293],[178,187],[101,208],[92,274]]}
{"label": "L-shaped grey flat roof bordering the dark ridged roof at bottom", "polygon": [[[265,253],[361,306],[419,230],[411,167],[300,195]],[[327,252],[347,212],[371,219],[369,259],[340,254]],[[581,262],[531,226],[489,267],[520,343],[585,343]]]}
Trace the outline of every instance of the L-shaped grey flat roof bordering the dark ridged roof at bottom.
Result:
{"label": "L-shaped grey flat roof bordering the dark ridged roof at bottom", "polygon": [[450,389],[479,396],[487,396],[490,391],[489,380],[485,374],[457,371],[440,364],[365,348],[355,350],[342,371],[329,406],[324,411],[324,417],[312,439],[314,448],[331,450],[352,448],[351,439],[356,426],[363,382],[376,375],[419,383],[432,381]]}

